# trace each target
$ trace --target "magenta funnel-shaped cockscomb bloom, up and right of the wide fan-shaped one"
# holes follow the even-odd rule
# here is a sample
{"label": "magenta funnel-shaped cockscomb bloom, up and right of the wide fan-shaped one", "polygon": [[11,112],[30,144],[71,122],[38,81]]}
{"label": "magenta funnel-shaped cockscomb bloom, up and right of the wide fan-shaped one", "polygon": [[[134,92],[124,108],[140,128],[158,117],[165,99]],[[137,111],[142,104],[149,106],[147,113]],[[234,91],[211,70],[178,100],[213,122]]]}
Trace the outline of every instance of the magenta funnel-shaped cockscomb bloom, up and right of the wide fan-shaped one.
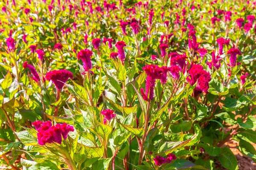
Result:
{"label": "magenta funnel-shaped cockscomb bloom, up and right of the wide fan-shaped one", "polygon": [[88,49],[81,50],[77,54],[77,59],[81,59],[84,66],[84,71],[89,71],[92,69],[92,62],[91,57],[93,55],[93,51],[90,51]]}

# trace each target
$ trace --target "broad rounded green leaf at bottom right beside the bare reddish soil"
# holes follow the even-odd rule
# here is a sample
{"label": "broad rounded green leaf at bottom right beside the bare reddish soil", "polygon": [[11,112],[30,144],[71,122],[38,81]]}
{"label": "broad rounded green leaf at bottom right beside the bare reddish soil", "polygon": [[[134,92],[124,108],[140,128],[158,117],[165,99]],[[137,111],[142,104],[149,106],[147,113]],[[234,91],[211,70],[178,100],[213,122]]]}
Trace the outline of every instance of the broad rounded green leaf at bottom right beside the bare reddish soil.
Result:
{"label": "broad rounded green leaf at bottom right beside the bare reddish soil", "polygon": [[229,170],[238,170],[236,156],[232,153],[230,148],[223,147],[222,152],[218,157],[221,165]]}

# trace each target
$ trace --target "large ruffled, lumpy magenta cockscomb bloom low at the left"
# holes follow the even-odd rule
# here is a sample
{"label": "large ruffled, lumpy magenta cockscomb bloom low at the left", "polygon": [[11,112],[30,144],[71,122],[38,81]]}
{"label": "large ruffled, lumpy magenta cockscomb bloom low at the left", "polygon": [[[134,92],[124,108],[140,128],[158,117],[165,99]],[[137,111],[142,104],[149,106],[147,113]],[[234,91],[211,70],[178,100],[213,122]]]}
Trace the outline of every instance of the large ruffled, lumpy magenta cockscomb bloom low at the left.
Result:
{"label": "large ruffled, lumpy magenta cockscomb bloom low at the left", "polygon": [[35,121],[32,125],[35,126],[35,129],[38,131],[37,137],[38,144],[40,145],[45,145],[46,143],[51,144],[53,142],[61,144],[61,136],[66,140],[67,134],[74,131],[74,127],[67,125],[66,123],[52,125],[51,121]]}

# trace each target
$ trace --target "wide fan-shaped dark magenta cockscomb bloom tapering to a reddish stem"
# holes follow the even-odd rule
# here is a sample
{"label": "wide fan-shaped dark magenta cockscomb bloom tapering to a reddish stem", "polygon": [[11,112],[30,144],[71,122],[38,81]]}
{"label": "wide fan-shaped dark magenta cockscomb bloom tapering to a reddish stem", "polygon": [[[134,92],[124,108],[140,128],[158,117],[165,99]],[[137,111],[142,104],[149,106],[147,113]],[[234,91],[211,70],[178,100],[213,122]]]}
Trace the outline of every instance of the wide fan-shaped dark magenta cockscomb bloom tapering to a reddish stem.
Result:
{"label": "wide fan-shaped dark magenta cockscomb bloom tapering to a reddish stem", "polygon": [[55,87],[58,90],[61,90],[64,86],[64,83],[67,82],[67,80],[73,79],[73,74],[70,71],[67,70],[53,70],[49,71],[46,75],[45,78],[54,83]]}

